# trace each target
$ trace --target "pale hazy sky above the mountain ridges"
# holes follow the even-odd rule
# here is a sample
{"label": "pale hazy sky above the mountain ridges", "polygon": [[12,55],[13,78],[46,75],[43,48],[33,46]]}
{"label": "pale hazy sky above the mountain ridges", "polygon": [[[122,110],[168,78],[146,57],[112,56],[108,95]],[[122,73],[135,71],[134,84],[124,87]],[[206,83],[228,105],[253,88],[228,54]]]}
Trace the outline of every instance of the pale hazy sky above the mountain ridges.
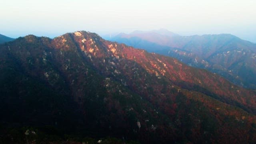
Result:
{"label": "pale hazy sky above the mountain ridges", "polygon": [[14,38],[166,28],[256,42],[256,0],[1,0],[0,19],[0,34]]}

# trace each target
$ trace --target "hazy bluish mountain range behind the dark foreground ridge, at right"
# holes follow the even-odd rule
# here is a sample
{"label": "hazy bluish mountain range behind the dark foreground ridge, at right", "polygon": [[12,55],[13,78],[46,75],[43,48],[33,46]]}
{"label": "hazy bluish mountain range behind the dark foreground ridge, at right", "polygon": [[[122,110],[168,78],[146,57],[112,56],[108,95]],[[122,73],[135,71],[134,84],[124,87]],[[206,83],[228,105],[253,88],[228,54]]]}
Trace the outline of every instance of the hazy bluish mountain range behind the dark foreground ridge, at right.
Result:
{"label": "hazy bluish mountain range behind the dark foreground ridge, at right", "polygon": [[162,31],[121,33],[110,40],[177,58],[245,88],[256,89],[256,44],[231,34],[179,36]]}

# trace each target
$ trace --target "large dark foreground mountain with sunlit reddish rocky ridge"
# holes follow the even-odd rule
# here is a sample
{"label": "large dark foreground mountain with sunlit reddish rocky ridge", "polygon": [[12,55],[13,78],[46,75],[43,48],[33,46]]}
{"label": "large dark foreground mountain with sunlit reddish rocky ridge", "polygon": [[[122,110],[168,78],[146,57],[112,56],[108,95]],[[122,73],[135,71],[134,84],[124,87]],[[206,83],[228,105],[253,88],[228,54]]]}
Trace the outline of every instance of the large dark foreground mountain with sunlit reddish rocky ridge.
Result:
{"label": "large dark foreground mountain with sunlit reddish rocky ridge", "polygon": [[1,143],[256,141],[256,92],[175,58],[78,31],[17,38],[0,61]]}

